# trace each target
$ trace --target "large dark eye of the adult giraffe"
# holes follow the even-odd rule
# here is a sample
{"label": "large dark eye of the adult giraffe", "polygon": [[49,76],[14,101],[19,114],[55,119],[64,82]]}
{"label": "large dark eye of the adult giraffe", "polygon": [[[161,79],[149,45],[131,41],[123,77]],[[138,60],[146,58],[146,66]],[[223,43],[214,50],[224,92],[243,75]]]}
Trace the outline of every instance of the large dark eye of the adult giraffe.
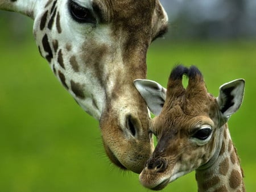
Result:
{"label": "large dark eye of the adult giraffe", "polygon": [[89,9],[78,5],[77,3],[69,2],[69,11],[72,18],[79,23],[96,23],[96,19],[92,15]]}

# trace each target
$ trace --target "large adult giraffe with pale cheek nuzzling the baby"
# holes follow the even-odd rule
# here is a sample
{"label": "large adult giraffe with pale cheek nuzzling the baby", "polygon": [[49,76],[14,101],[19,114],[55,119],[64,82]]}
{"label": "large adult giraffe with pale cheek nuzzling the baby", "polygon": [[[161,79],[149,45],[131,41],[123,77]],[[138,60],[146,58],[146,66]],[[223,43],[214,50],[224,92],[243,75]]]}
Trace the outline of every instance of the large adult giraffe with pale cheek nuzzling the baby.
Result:
{"label": "large adult giraffe with pale cheek nuzzling the baby", "polygon": [[41,55],[77,103],[99,120],[105,151],[140,173],[153,144],[147,106],[133,86],[146,78],[151,41],[167,30],[158,0],[0,0],[34,19]]}

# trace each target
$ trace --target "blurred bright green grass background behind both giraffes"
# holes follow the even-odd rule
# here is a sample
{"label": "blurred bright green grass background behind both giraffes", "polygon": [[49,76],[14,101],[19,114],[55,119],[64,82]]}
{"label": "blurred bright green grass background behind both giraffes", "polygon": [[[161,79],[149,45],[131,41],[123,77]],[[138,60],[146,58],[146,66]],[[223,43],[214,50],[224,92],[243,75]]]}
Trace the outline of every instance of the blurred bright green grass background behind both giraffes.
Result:
{"label": "blurred bright green grass background behind both giraffes", "polygon": [[[98,122],[73,101],[40,56],[32,20],[1,11],[0,24],[0,191],[148,191],[138,174],[110,164]],[[183,37],[176,26],[171,23],[166,39],[152,43],[148,79],[166,86],[175,64],[197,65],[217,96],[220,85],[245,78],[245,99],[229,127],[246,189],[255,191],[256,40]],[[163,191],[197,191],[195,172]]]}

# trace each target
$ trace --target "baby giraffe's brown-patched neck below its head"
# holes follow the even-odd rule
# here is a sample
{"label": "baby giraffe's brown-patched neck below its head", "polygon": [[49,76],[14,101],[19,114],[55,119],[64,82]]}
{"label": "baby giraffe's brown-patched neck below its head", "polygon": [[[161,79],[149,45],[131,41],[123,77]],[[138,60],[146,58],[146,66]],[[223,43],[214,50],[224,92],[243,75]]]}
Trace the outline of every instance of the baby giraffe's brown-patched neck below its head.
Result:
{"label": "baby giraffe's brown-patched neck below its head", "polygon": [[222,146],[217,160],[206,169],[196,170],[198,191],[245,191],[243,170],[228,126],[225,126]]}

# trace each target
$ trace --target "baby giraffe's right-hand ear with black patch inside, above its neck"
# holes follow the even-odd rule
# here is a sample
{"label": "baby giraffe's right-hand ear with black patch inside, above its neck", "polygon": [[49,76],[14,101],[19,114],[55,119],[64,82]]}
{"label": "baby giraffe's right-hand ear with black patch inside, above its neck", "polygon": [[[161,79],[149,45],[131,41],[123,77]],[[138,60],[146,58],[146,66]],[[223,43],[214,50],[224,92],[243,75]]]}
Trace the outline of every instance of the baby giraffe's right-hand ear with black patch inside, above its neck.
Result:
{"label": "baby giraffe's right-hand ear with black patch inside, above its neck", "polygon": [[226,118],[229,118],[241,106],[244,92],[245,80],[243,79],[234,80],[220,86],[217,103]]}

